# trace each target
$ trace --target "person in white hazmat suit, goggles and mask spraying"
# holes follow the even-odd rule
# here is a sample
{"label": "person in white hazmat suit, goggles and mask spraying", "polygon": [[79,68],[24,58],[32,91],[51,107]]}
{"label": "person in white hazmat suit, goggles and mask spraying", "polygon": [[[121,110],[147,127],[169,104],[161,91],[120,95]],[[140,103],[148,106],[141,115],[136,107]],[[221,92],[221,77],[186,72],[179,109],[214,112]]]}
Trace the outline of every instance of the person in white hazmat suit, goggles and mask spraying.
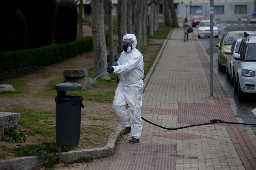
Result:
{"label": "person in white hazmat suit, goggles and mask spraying", "polygon": [[[117,61],[117,66],[107,68],[108,72],[120,76],[112,108],[125,127],[124,135],[131,132],[132,139],[129,143],[138,143],[142,131],[143,56],[136,49],[137,39],[134,34],[124,35],[121,45],[123,52]],[[126,109],[126,104],[130,111]]]}

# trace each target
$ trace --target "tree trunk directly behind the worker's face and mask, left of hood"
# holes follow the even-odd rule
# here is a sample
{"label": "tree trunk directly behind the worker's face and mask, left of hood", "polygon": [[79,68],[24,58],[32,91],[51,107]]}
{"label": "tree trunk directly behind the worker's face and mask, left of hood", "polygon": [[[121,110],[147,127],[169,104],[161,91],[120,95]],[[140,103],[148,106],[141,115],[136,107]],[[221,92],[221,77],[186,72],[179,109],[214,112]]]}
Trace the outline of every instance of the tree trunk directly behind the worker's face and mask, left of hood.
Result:
{"label": "tree trunk directly behind the worker's face and mask, left of hood", "polygon": [[[117,3],[117,10],[118,10],[118,44],[120,44],[123,40],[123,37],[125,34],[127,34],[126,31],[126,21],[127,21],[127,17],[126,17],[126,11],[127,11],[127,7],[126,7],[127,3],[126,0],[118,0]],[[118,54],[120,55],[123,52],[123,47],[122,45],[118,45]]]}

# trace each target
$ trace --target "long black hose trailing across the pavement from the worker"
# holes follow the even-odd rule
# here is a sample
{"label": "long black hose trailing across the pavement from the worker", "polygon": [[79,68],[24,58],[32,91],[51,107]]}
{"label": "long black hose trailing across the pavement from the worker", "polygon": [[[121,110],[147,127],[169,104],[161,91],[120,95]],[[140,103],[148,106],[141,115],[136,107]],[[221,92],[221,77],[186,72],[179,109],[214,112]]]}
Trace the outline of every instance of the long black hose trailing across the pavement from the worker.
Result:
{"label": "long black hose trailing across the pavement from the worker", "polygon": [[[119,83],[119,79],[118,79],[118,74],[116,74],[116,81],[117,84]],[[128,104],[127,104],[128,106]],[[128,106],[129,107],[129,106]],[[239,125],[251,125],[251,126],[256,126],[256,124],[249,124],[249,123],[237,123],[237,122],[224,122],[224,120],[221,119],[211,119],[210,122],[207,123],[201,123],[201,124],[195,124],[195,125],[188,125],[188,126],[182,126],[182,127],[177,127],[177,128],[166,128],[160,125],[157,125],[155,123],[152,123],[150,121],[148,121],[147,119],[143,118],[141,116],[142,120],[144,120],[147,123],[150,123],[151,125],[157,126],[159,128],[163,128],[163,129],[167,129],[167,130],[177,130],[177,129],[184,129],[184,128],[188,128],[188,127],[194,127],[194,126],[202,126],[202,125],[209,125],[209,124],[215,124],[215,123],[229,123],[229,124],[239,124]]]}

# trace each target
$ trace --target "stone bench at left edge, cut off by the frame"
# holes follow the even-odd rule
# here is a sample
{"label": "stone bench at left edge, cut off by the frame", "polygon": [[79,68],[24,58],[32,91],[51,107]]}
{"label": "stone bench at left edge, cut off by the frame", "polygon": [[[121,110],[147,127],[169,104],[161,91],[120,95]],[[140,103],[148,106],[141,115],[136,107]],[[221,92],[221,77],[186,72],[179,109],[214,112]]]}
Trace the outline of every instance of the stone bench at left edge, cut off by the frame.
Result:
{"label": "stone bench at left edge, cut off by the frame", "polygon": [[4,129],[16,128],[19,123],[19,113],[0,112],[0,140],[4,137]]}

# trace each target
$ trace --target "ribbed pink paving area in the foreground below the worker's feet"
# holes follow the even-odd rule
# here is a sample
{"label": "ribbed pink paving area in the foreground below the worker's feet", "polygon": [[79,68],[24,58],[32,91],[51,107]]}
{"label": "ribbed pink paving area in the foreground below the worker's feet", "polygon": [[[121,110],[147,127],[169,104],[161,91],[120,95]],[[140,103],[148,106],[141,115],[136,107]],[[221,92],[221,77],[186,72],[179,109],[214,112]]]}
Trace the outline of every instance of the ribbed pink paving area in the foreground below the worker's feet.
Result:
{"label": "ribbed pink paving area in the foreground below the worker's feet", "polygon": [[94,160],[86,170],[175,170],[176,157],[173,155],[176,155],[173,144],[120,142],[113,156]]}

